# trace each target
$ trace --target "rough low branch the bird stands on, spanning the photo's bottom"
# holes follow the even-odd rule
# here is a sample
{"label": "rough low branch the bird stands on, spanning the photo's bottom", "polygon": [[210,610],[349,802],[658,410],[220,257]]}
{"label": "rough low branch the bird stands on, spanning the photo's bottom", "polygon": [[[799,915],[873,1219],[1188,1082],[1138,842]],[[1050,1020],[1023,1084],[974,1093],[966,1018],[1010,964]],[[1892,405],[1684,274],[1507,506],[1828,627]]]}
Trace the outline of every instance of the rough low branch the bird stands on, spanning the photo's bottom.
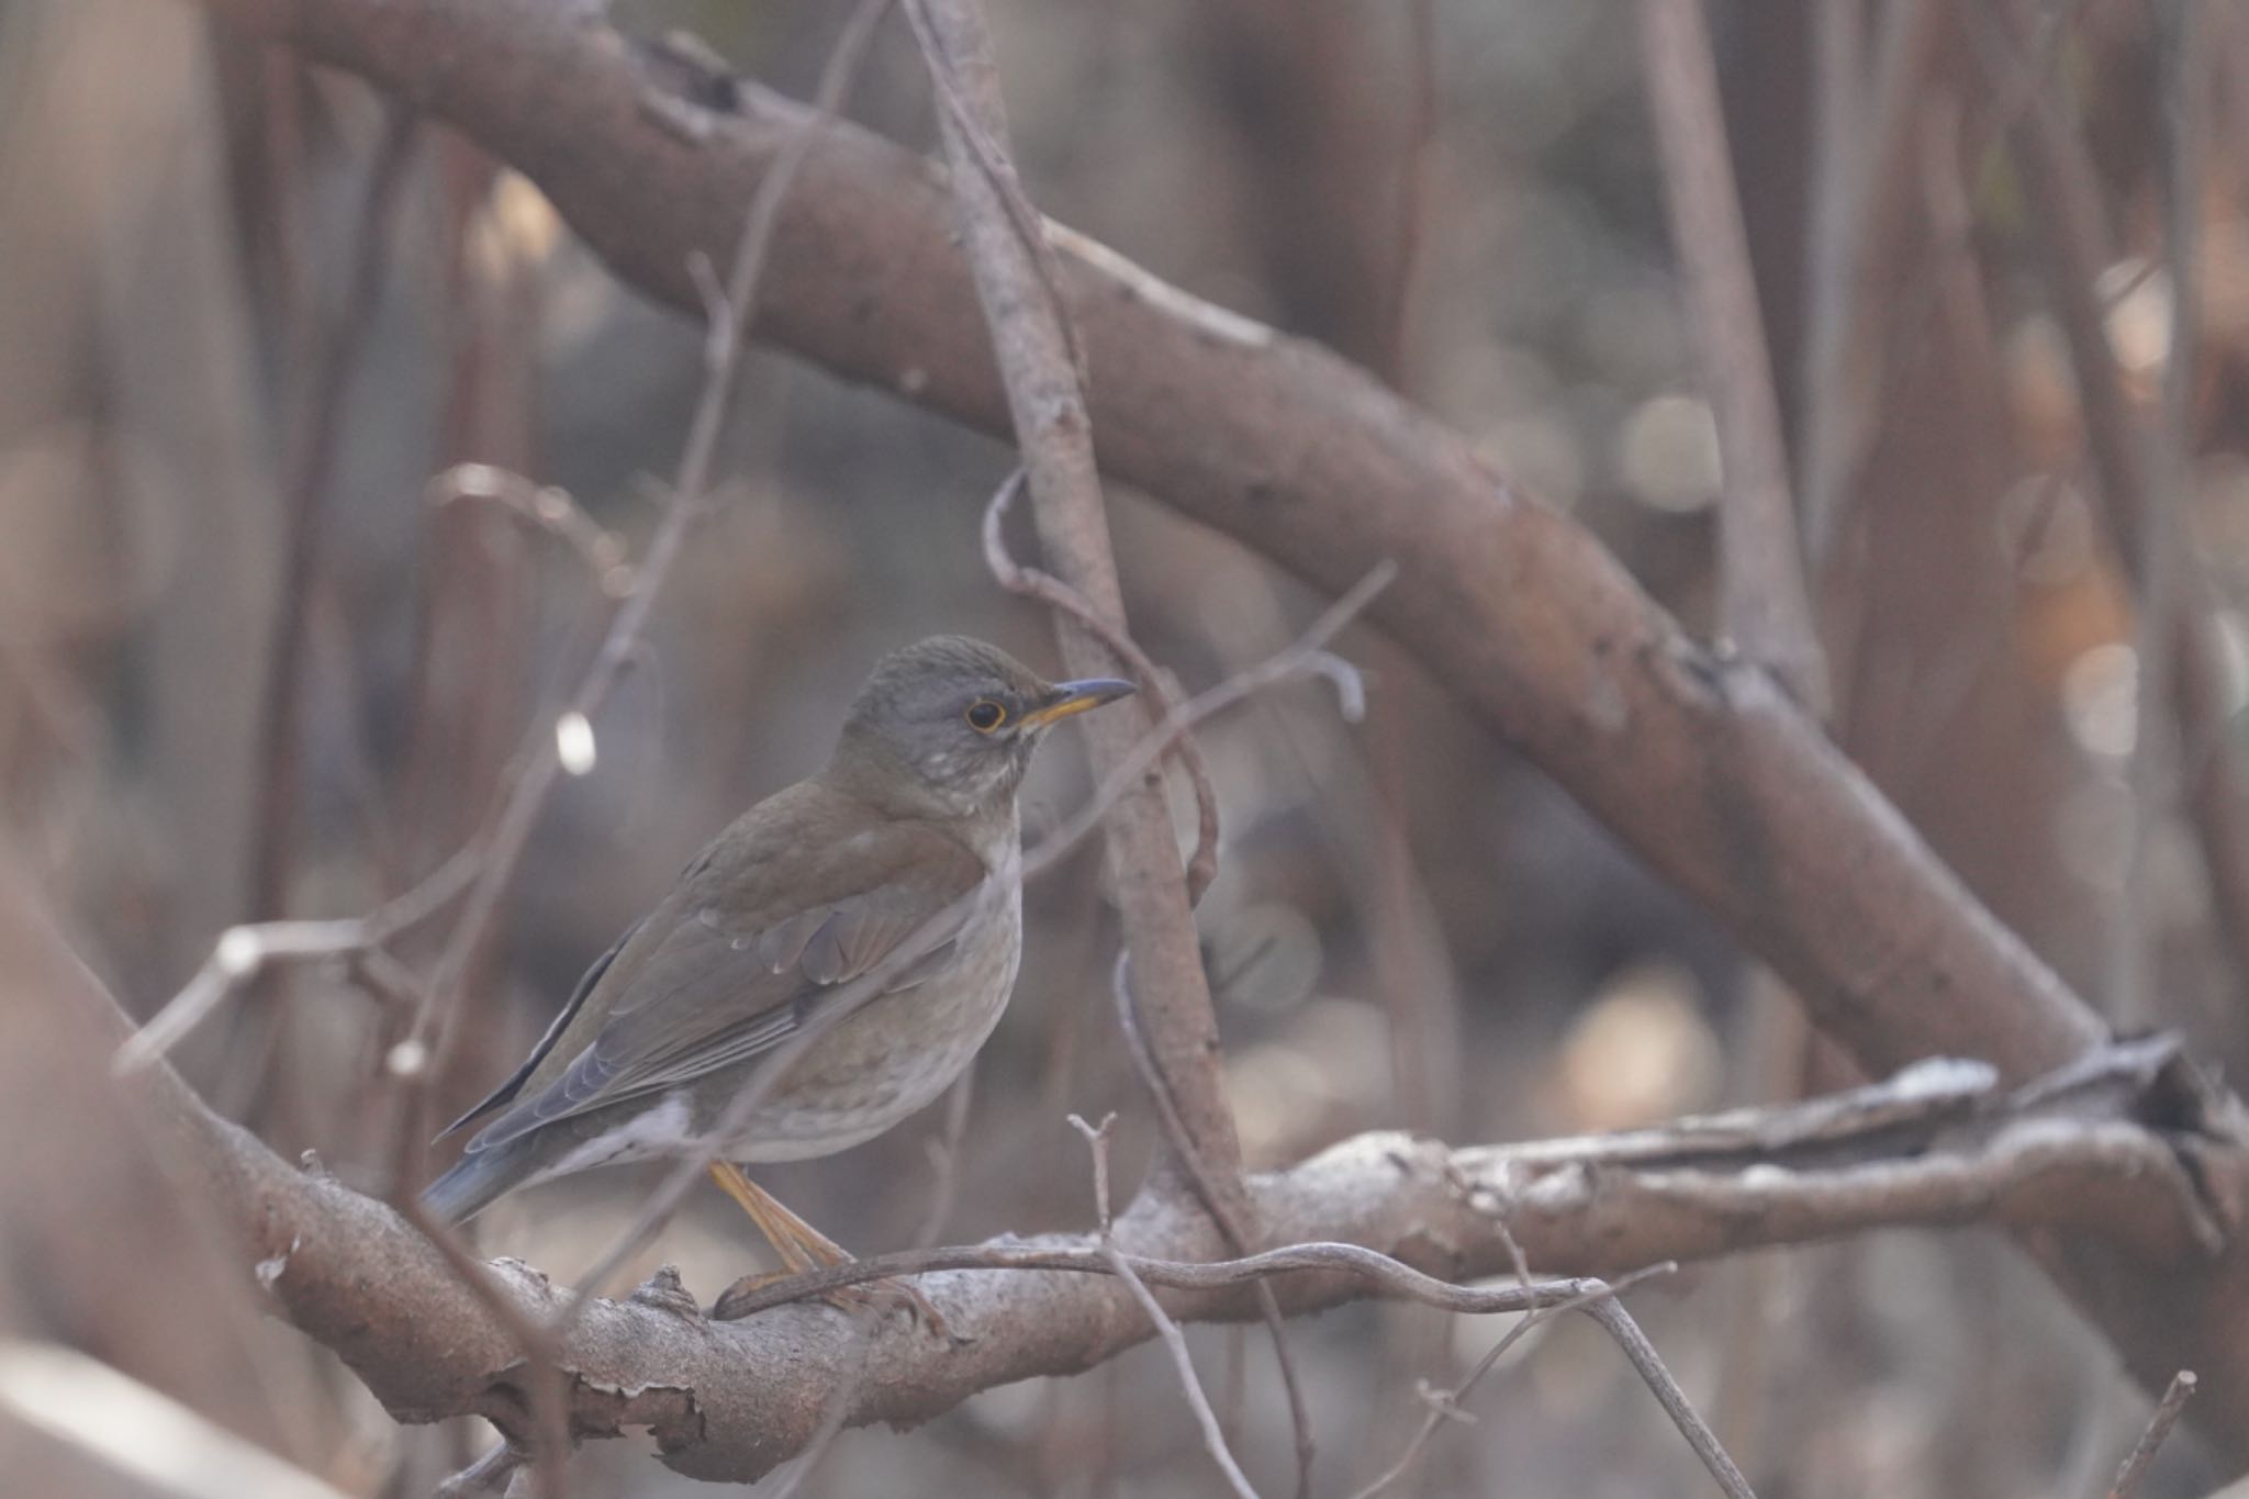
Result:
{"label": "rough low branch the bird stands on, spanning the photo's bottom", "polygon": [[[2103,1056],[2076,1088],[2006,1094],[1986,1072],[1932,1090],[1909,1072],[1844,1099],[1608,1139],[1453,1151],[1361,1135],[1248,1180],[1259,1220],[1286,1250],[1196,1263],[1221,1252],[1208,1218],[1154,1196],[1116,1223],[1113,1243],[1142,1281],[1181,1288],[1165,1292],[1165,1310],[1183,1321],[1255,1315],[1259,1279],[1291,1315],[1370,1294],[1500,1310],[1520,1301],[1520,1285],[1457,1281],[1509,1274],[1509,1234],[1550,1277],[1876,1225],[2074,1227],[2098,1216],[2213,1243],[2215,1209],[2182,1166],[2195,1137],[2168,1097],[2168,1050]],[[569,1303],[567,1288],[497,1261],[479,1294],[396,1211],[286,1164],[211,1115],[169,1063],[121,1085],[151,1103],[182,1178],[241,1225],[245,1263],[279,1315],[331,1346],[396,1418],[475,1414],[529,1441],[526,1364],[486,1294],[513,1301],[515,1321],[547,1324]],[[1732,1146],[1714,1144],[1727,1133]],[[670,1270],[625,1299],[594,1299],[558,1348],[571,1434],[645,1429],[675,1470],[749,1481],[814,1441],[839,1382],[850,1382],[848,1425],[913,1425],[996,1384],[1091,1369],[1151,1335],[1131,1290],[1102,1274],[1093,1234],[1003,1238],[864,1270],[942,1263],[981,1265],[920,1279],[963,1344],[893,1319],[861,1348],[850,1317],[807,1303],[715,1321]],[[839,1272],[823,1274],[776,1290],[801,1297]]]}

